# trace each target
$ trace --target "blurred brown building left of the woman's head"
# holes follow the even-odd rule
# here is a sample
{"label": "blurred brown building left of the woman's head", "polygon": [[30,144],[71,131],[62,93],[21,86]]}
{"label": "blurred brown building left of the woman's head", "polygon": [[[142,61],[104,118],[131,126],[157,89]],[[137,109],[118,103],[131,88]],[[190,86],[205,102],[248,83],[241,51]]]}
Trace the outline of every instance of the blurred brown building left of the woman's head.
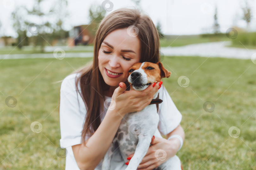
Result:
{"label": "blurred brown building left of the woman's head", "polygon": [[74,26],[72,30],[70,30],[70,46],[76,46],[79,44],[87,45],[92,44],[94,41],[94,36],[90,34],[88,30],[88,25],[79,25]]}

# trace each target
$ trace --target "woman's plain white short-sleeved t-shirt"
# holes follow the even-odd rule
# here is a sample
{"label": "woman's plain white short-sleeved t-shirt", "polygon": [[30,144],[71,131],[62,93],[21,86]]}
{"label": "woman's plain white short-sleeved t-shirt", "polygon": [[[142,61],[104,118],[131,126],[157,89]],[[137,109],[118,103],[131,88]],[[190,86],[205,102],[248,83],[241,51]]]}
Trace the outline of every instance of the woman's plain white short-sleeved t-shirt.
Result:
{"label": "woman's plain white short-sleeved t-shirt", "polygon": [[[79,170],[71,147],[81,144],[83,122],[86,116],[86,108],[82,97],[79,93],[76,93],[75,77],[79,75],[80,73],[74,73],[65,77],[60,88],[60,146],[61,148],[66,148],[66,170]],[[81,93],[80,82],[78,82],[78,89]],[[111,99],[110,97],[108,98]],[[159,89],[159,99],[162,99],[163,102],[159,104],[158,109],[158,130],[162,135],[166,135],[180,124],[182,116],[163,85]],[[80,105],[78,105],[78,101]],[[107,109],[104,107],[104,113],[101,114],[101,121],[106,115],[106,112]],[[86,136],[85,140],[89,137]],[[101,170],[101,164],[102,160],[95,170]],[[113,153],[111,165],[114,165],[113,167],[115,169],[125,169],[125,162],[122,160],[118,149]]]}

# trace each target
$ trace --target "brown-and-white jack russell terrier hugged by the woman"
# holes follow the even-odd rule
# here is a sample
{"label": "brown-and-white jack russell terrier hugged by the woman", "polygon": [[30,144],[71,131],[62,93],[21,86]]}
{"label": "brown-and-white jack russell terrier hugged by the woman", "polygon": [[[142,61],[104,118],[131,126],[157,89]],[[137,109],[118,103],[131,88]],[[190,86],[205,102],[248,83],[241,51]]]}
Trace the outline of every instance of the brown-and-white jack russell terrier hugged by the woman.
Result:
{"label": "brown-and-white jack russell terrier hugged by the woman", "polygon": [[[142,91],[151,83],[160,82],[162,78],[168,78],[170,75],[171,72],[165,69],[161,62],[156,64],[150,62],[136,63],[129,69],[128,82],[131,90]],[[158,93],[154,94],[154,99],[157,98]],[[161,99],[160,101],[162,102]],[[136,170],[149,149],[153,135],[162,138],[157,130],[158,123],[159,115],[156,105],[148,105],[141,111],[125,114],[113,142],[104,156],[102,170],[110,170],[114,146],[119,146],[125,162],[127,161],[126,158],[134,153],[125,170]],[[156,170],[177,170],[177,167],[173,166],[175,160],[172,158],[162,163]]]}

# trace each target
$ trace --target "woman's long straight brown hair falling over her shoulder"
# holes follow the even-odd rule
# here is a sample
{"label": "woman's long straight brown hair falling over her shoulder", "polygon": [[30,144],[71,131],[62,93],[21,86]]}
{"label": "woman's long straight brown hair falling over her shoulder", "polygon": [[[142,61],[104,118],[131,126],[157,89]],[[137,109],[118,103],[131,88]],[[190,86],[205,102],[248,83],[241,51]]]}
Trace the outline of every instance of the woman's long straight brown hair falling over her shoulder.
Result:
{"label": "woman's long straight brown hair falling over her shoulder", "polygon": [[[92,135],[101,123],[100,115],[103,112],[103,104],[106,99],[104,91],[109,89],[109,85],[99,70],[98,53],[104,38],[116,29],[135,26],[138,30],[138,37],[141,44],[140,62],[157,63],[159,61],[159,35],[157,29],[146,14],[141,13],[139,9],[121,8],[108,14],[100,23],[94,39],[94,58],[93,62],[73,73],[81,73],[76,79],[76,91],[80,80],[81,93],[86,106],[86,117],[82,129],[81,142],[86,144],[85,136]],[[72,74],[73,74],[72,73]],[[125,82],[128,85],[128,82]],[[128,87],[128,86],[127,86]],[[101,110],[100,110],[101,108]]]}

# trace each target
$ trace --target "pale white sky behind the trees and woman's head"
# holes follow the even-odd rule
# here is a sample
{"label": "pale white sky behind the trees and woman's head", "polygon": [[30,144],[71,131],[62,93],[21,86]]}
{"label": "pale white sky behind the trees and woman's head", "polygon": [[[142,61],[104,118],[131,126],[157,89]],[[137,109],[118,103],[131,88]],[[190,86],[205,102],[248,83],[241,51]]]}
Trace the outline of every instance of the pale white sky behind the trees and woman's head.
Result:
{"label": "pale white sky behind the trees and woman's head", "polygon": [[[250,28],[256,31],[256,1],[248,1],[253,8]],[[53,0],[45,0],[42,8],[47,11],[52,2]],[[65,29],[70,30],[76,25],[89,24],[90,5],[92,3],[101,5],[102,2],[103,0],[68,0],[69,17],[65,20]],[[111,2],[112,11],[135,5],[130,0],[111,0]],[[140,7],[151,17],[155,25],[160,21],[164,34],[190,35],[210,32],[216,6],[221,32],[226,32],[228,28],[234,26],[246,28],[246,21],[241,20],[243,15],[241,7],[244,2],[245,0],[141,0]],[[16,36],[12,29],[11,12],[21,5],[31,9],[33,4],[34,0],[0,0],[0,21],[3,25],[0,36]],[[37,23],[36,20],[34,22]]]}

